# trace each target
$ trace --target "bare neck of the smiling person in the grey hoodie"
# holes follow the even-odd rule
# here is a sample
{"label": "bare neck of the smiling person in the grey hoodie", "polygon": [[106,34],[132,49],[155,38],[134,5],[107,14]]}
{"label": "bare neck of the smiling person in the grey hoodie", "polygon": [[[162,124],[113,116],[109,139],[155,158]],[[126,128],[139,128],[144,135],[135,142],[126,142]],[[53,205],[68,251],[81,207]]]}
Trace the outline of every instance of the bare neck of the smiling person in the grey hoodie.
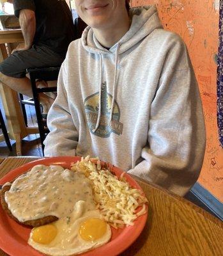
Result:
{"label": "bare neck of the smiling person in the grey hoodie", "polygon": [[112,25],[111,28],[93,28],[94,34],[98,42],[106,48],[111,48],[127,33],[130,28],[130,18],[122,20],[120,24],[116,26]]}

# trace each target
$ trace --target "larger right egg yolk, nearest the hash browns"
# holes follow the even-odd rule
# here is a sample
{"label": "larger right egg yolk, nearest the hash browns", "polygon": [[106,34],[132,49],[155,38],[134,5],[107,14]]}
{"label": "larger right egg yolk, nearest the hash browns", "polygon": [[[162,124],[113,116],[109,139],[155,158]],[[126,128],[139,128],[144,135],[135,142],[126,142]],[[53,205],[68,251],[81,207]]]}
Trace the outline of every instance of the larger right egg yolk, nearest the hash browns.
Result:
{"label": "larger right egg yolk, nearest the hash browns", "polygon": [[98,218],[90,218],[81,223],[79,234],[86,241],[95,241],[102,237],[107,230],[107,223]]}

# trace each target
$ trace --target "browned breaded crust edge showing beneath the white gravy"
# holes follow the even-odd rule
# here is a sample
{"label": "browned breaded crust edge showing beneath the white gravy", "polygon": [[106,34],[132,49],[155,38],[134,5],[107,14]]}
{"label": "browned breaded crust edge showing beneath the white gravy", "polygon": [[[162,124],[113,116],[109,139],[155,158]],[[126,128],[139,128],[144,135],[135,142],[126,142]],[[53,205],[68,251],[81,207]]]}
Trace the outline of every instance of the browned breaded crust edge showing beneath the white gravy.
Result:
{"label": "browned breaded crust edge showing beneath the white gravy", "polygon": [[40,218],[38,220],[28,220],[28,221],[20,222],[17,218],[15,218],[15,216],[13,216],[10,209],[8,209],[8,204],[6,203],[6,201],[4,199],[4,193],[6,193],[6,191],[9,191],[10,188],[11,188],[11,185],[6,185],[0,190],[1,205],[3,206],[3,209],[4,209],[4,211],[6,211],[8,216],[10,216],[10,218],[17,221],[20,224],[29,225],[32,227],[39,227],[39,226],[46,225],[48,223],[58,220],[58,217],[56,217],[56,216],[46,216],[46,217]]}

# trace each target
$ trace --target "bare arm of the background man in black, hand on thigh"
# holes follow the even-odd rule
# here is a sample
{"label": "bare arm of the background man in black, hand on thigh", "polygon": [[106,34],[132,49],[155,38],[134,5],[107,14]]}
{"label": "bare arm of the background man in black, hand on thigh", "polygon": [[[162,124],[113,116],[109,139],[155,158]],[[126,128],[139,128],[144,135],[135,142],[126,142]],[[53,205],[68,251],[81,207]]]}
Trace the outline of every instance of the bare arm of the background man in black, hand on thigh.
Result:
{"label": "bare arm of the background man in black, hand on thigh", "polygon": [[20,10],[19,24],[22,29],[22,35],[24,37],[24,44],[18,45],[15,51],[25,51],[30,49],[33,45],[33,39],[36,32],[36,17],[35,12],[29,9]]}

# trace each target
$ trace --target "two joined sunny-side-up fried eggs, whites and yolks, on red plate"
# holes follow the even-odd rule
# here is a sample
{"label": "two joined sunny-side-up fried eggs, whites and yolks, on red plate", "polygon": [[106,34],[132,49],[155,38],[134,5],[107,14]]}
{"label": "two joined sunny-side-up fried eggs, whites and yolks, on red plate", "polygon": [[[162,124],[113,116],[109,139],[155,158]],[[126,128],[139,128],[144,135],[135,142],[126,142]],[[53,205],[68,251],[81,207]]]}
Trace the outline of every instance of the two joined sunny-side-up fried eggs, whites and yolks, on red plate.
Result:
{"label": "two joined sunny-side-up fried eggs, whites and yolks, on red plate", "polygon": [[70,215],[33,228],[28,244],[47,255],[75,255],[102,246],[111,239],[111,234],[102,214],[89,211],[86,202],[80,200]]}

